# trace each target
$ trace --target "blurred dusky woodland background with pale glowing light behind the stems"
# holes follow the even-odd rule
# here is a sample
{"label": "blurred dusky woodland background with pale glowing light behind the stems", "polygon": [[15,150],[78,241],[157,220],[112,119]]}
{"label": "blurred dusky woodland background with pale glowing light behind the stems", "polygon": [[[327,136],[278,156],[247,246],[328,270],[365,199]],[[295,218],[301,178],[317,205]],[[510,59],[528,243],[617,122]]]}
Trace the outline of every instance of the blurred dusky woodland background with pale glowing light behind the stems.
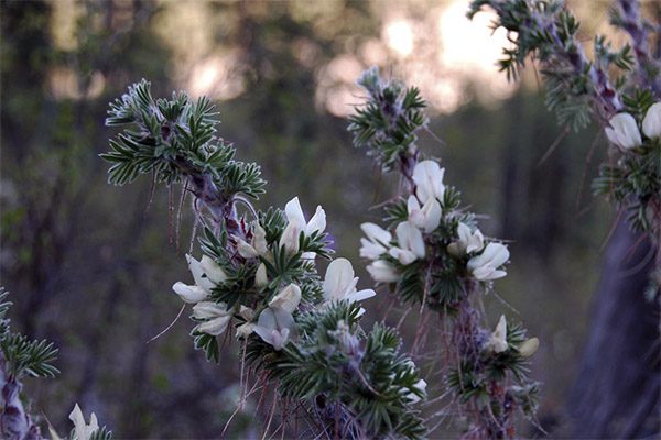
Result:
{"label": "blurred dusky woodland background with pale glowing light behind the stems", "polygon": [[[568,3],[586,41],[608,32],[608,2]],[[192,216],[185,206],[176,227],[180,188],[156,188],[150,204],[149,177],[107,185],[108,165],[98,155],[115,133],[104,127],[108,102],[141,78],[156,97],[178,89],[210,96],[219,135],[235,143],[240,160],[259,163],[269,182],[258,207],[283,207],[294,196],[307,212],[322,205],[338,255],[355,262],[367,288],[358,226],[379,216],[369,208],[397,185],[392,176],[379,179],[346,131],[345,117],[364,97],[355,80],[371,65],[422,89],[430,130],[445,144],[421,133],[420,146],[442,158],[446,184],[486,216],[483,231],[512,241],[508,277],[496,282],[500,298],[486,298],[487,315],[495,324],[507,314],[540,338],[532,366],[544,383],[539,417],[553,437],[564,435],[599,248],[613,223],[589,190],[605,141],[598,127],[563,135],[533,68],[508,84],[496,66],[507,35],[491,35],[488,13],[469,22],[467,2],[449,0],[0,7],[0,285],[15,302],[15,330],[59,348],[62,374],[28,380],[25,393],[61,435],[77,402],[116,438],[217,438],[238,398],[236,342],[220,365],[207,363],[193,349],[184,314],[147,344],[178,312],[172,284],[191,280],[183,254]],[[177,231],[178,253],[171,243]],[[382,318],[390,298],[381,293],[370,301],[366,327]],[[388,321],[395,326],[401,316],[394,310]],[[411,312],[400,328],[405,351],[418,323]],[[425,350],[437,349],[427,342]],[[259,435],[253,410],[240,413],[225,437]]]}

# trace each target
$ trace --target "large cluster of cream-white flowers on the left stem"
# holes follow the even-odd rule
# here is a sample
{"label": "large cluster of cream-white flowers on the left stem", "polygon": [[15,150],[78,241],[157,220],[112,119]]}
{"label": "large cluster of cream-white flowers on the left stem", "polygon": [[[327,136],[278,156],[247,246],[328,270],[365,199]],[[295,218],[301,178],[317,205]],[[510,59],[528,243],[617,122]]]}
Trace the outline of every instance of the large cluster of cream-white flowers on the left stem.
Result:
{"label": "large cluster of cream-white flowers on the left stem", "polygon": [[[197,332],[219,336],[227,330],[232,318],[236,317],[242,322],[236,328],[237,338],[248,338],[254,332],[275,351],[282,350],[288,342],[297,339],[299,330],[294,316],[300,312],[301,287],[306,282],[303,280],[302,285],[279,283],[282,276],[278,275],[283,274],[277,274],[279,271],[275,267],[275,254],[280,250],[288,256],[299,253],[301,243],[305,242],[305,239],[318,237],[324,232],[326,213],[318,206],[312,219],[306,221],[299,198],[294,197],[286,204],[284,215],[286,226],[280,238],[272,242],[267,240],[267,231],[258,220],[247,226],[243,231],[245,238],[250,235],[250,240],[237,234],[232,235],[234,240],[228,243],[230,249],[236,250],[236,257],[234,262],[230,258],[228,270],[224,270],[209,255],[203,255],[199,261],[192,255],[186,255],[194,284],[176,282],[172,288],[184,302],[194,304],[193,318],[199,322]],[[300,260],[313,261],[315,256],[315,252],[304,250]],[[256,267],[251,290],[253,295],[247,297],[243,304],[237,301],[232,307],[228,307],[227,301],[218,300],[216,293],[224,288],[232,288],[236,277],[230,277],[228,272],[232,272],[232,268],[239,265]],[[361,301],[376,295],[371,289],[358,292],[356,288],[358,277],[354,275],[354,268],[348,260],[334,260],[328,265],[321,284],[323,293],[321,306],[345,299],[349,302]],[[307,287],[316,288],[314,283],[312,287]],[[273,290],[274,295],[270,295]],[[360,315],[364,311],[361,309]]]}

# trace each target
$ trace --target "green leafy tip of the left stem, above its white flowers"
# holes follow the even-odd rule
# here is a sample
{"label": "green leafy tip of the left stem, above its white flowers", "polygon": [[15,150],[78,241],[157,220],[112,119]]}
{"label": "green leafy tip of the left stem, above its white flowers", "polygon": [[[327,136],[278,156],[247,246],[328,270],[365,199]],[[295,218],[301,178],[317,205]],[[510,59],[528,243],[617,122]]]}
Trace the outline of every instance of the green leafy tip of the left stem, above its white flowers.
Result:
{"label": "green leafy tip of the left stem, above its white flowers", "polygon": [[232,145],[215,136],[218,113],[208,98],[192,101],[181,91],[170,100],[154,101],[150,82],[143,79],[111,103],[108,113],[107,125],[133,125],[110,140],[111,151],[101,154],[112,164],[110,183],[123,185],[147,173],[167,185],[183,177],[196,184],[196,178],[210,176],[218,191],[213,196],[220,199],[237,194],[257,198],[263,193],[259,166],[235,161]]}

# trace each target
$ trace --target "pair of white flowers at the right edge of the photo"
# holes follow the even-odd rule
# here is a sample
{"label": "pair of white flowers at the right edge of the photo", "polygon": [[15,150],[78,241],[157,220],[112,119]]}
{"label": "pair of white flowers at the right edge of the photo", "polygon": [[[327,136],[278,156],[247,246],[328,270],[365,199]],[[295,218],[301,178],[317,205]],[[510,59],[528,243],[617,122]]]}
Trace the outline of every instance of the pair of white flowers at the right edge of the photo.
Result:
{"label": "pair of white flowers at the right edge of the photo", "polygon": [[[636,118],[622,112],[608,121],[606,136],[614,145],[627,151],[642,145],[642,138]],[[642,119],[642,133],[649,139],[661,138],[661,102],[653,103]]]}

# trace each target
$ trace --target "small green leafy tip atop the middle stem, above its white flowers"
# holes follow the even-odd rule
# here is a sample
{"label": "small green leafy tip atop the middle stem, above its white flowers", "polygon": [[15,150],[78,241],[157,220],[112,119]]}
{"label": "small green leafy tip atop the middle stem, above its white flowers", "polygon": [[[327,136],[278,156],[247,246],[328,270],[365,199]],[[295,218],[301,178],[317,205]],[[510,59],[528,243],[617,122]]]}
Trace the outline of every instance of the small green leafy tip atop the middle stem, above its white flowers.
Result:
{"label": "small green leafy tip atop the middle stem, above its white flowers", "polygon": [[392,169],[415,148],[415,132],[427,123],[421,111],[426,102],[415,87],[404,90],[399,81],[383,82],[377,67],[366,70],[358,85],[365,87],[369,99],[349,117],[354,145],[368,148],[384,170]]}

